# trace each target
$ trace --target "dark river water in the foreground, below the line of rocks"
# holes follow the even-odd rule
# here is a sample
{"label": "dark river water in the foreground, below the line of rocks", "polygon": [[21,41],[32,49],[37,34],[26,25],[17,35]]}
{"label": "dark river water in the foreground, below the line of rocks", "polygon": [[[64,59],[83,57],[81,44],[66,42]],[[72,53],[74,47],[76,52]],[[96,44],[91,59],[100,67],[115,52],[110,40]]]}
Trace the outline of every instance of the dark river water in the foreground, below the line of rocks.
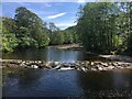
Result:
{"label": "dark river water in the foreground, below the line of rocks", "polygon": [[132,70],[9,69],[4,97],[132,97]]}

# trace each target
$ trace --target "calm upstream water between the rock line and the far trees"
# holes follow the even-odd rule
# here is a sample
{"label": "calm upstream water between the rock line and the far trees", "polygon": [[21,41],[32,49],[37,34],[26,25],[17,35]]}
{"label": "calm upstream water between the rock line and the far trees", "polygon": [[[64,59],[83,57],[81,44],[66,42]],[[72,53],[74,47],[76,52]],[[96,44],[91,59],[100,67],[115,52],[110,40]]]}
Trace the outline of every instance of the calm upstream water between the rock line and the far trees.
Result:
{"label": "calm upstream water between the rock line and the far trees", "polygon": [[8,59],[41,59],[41,61],[57,61],[57,62],[76,62],[84,59],[99,59],[94,55],[89,55],[82,51],[59,50],[56,47],[45,48],[28,48],[19,50],[14,53],[3,53],[2,58]]}

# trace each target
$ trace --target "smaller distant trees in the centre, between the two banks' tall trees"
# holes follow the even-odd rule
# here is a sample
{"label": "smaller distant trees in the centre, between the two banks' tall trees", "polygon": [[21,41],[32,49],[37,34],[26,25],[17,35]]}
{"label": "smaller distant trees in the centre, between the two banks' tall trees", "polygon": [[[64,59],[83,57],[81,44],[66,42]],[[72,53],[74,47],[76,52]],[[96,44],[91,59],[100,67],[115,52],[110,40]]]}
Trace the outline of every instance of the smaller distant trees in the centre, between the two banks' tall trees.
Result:
{"label": "smaller distant trees in the centre, between the two banks' tall trees", "polygon": [[72,44],[77,43],[77,34],[74,26],[61,31],[54,23],[50,23],[50,44]]}

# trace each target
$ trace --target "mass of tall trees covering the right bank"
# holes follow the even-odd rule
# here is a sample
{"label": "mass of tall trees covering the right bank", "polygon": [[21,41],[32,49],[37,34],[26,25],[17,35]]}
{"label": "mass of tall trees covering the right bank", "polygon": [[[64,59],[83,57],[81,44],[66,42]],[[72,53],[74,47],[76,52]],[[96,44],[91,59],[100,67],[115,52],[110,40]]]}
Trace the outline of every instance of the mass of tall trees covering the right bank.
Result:
{"label": "mass of tall trees covering the right bank", "polygon": [[87,51],[132,55],[132,2],[89,2],[78,16],[76,32]]}

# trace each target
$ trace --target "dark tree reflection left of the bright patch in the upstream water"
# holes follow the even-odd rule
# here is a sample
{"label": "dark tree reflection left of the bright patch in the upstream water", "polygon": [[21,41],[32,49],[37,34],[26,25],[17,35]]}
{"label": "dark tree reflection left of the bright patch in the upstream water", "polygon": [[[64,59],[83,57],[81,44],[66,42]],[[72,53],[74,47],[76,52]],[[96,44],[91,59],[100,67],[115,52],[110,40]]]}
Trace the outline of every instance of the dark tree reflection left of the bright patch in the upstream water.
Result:
{"label": "dark tree reflection left of the bright patch in the upstream water", "polygon": [[46,61],[47,48],[18,50],[13,53],[3,53],[2,58],[8,59],[44,59]]}

